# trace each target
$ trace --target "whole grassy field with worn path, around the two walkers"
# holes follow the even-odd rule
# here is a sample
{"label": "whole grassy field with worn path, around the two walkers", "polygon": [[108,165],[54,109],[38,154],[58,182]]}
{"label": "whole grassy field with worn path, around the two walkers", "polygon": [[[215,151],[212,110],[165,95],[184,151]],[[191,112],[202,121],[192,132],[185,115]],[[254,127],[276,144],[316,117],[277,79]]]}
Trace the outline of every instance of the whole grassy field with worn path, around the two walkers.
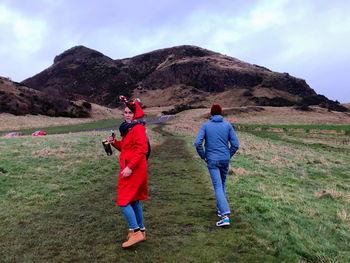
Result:
{"label": "whole grassy field with worn path, around the two walkers", "polygon": [[348,262],[349,136],[238,131],[221,229],[195,134],[179,130],[148,128],[147,241],[128,250],[108,131],[1,138],[1,262]]}

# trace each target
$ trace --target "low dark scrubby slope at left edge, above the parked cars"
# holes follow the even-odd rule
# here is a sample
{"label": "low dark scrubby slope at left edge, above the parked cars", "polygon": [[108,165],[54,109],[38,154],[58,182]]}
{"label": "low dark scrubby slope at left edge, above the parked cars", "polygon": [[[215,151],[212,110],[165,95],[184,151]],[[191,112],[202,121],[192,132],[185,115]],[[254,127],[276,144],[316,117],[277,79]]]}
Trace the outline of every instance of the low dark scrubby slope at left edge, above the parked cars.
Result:
{"label": "low dark scrubby slope at left edge, above the parked cars", "polygon": [[89,117],[90,103],[69,101],[55,89],[39,91],[0,77],[0,113]]}

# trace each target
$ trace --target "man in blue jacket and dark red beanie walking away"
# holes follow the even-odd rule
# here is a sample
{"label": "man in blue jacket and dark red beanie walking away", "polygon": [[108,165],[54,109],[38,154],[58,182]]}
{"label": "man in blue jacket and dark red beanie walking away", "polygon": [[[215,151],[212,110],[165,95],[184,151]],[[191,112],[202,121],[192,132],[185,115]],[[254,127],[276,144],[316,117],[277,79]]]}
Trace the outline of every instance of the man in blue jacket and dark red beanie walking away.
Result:
{"label": "man in blue jacket and dark red beanie walking away", "polygon": [[[224,121],[219,104],[211,107],[210,114],[210,120],[200,128],[194,145],[199,156],[207,163],[214,186],[218,216],[221,217],[216,225],[228,226],[230,225],[228,216],[231,211],[226,200],[225,182],[230,159],[238,150],[239,143],[232,125]],[[205,140],[205,149],[203,149],[203,140]]]}

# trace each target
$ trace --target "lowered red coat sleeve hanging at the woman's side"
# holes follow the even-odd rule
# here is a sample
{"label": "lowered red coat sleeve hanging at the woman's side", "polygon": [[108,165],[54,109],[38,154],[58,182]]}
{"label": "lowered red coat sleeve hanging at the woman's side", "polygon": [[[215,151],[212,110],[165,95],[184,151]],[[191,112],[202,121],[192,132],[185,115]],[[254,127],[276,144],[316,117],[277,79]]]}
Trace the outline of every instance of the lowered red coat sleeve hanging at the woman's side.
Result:
{"label": "lowered red coat sleeve hanging at the woman's side", "polygon": [[148,151],[148,143],[145,127],[142,125],[136,125],[133,129],[134,138],[134,154],[132,159],[129,160],[128,167],[134,170],[138,163],[145,158]]}

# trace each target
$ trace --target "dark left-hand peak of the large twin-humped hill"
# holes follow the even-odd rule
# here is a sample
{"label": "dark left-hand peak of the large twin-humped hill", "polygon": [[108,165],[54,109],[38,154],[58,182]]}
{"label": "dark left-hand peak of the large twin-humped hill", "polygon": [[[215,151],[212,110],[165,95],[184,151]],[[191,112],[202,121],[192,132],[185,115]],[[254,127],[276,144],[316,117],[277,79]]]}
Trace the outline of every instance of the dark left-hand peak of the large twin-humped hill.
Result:
{"label": "dark left-hand peak of the large twin-humped hill", "polygon": [[55,89],[70,100],[87,99],[98,104],[113,105],[117,94],[130,94],[134,83],[122,64],[95,50],[78,46],[56,56],[54,64],[26,79],[24,85],[37,89]]}

